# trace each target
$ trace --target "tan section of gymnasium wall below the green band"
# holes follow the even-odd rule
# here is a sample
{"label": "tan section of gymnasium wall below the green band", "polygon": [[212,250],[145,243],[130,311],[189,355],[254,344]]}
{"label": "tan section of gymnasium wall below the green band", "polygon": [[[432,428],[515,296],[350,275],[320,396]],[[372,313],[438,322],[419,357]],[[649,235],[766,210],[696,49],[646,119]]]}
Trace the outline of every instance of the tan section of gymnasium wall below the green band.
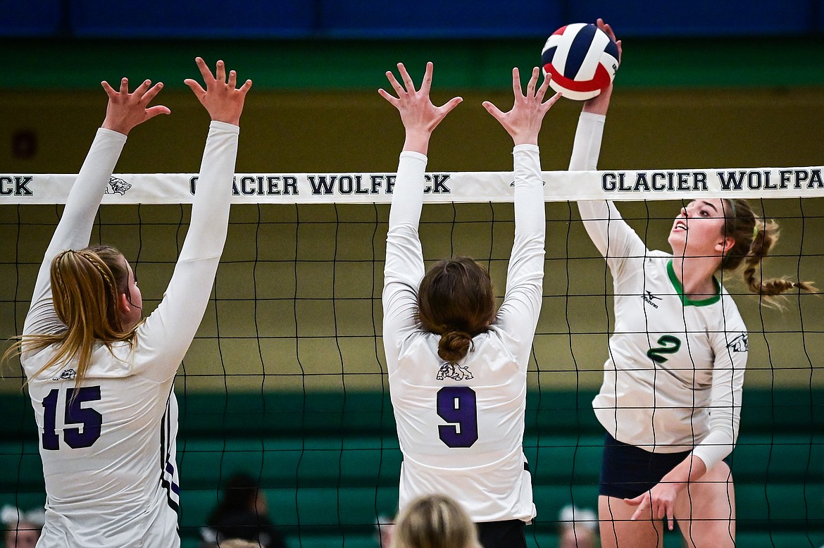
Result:
{"label": "tan section of gymnasium wall below the green band", "polygon": [[[508,170],[511,143],[497,123],[480,107],[492,98],[508,104],[508,91],[456,90],[465,103],[438,129],[431,146],[429,169]],[[12,124],[30,124],[43,136],[42,171],[76,172],[93,132],[100,123],[101,92],[73,91],[55,97],[54,113],[40,106],[33,96],[16,92],[2,96],[3,110]],[[174,114],[152,120],[129,137],[118,171],[197,171],[207,119],[188,92],[164,91],[164,103]],[[442,95],[445,100],[449,93]],[[776,100],[776,96],[780,100]],[[168,100],[168,101],[166,101]],[[541,148],[545,169],[564,169],[579,105],[563,101],[545,121]],[[808,166],[820,165],[824,96],[812,89],[794,90],[640,90],[616,92],[607,124],[601,166],[606,169],[686,166]],[[63,128],[63,124],[66,127]],[[798,128],[806,131],[798,131]],[[66,136],[69,138],[66,138]],[[240,172],[289,171],[394,171],[402,143],[396,112],[373,91],[262,91],[250,95],[241,129]],[[11,172],[38,171],[9,161]],[[667,249],[666,236],[679,204],[672,202],[621,204],[625,217],[647,238],[653,248]],[[821,199],[805,201],[806,234],[798,219],[798,200],[766,200],[763,207],[784,227],[774,259],[765,275],[787,274],[816,280],[824,271],[824,241],[816,234],[824,230]],[[37,265],[47,244],[58,208],[26,206],[24,223],[37,223],[17,232],[14,208],[0,208],[2,256],[10,263],[0,275],[3,299],[31,293]],[[162,296],[171,265],[179,250],[188,208],[143,206],[101,209],[104,227],[101,239],[119,246],[138,264],[138,276],[147,302],[146,311]],[[596,388],[606,358],[606,335],[611,299],[604,261],[597,256],[579,222],[574,207],[548,204],[548,245],[544,308],[531,363],[530,383],[554,390]],[[266,226],[258,234],[255,222],[282,222]],[[199,339],[194,341],[185,362],[186,391],[266,390],[381,390],[382,346],[380,340],[353,339],[354,334],[379,332],[379,302],[331,301],[261,303],[231,302],[227,298],[251,299],[256,292],[265,298],[379,297],[382,256],[388,208],[372,206],[233,206],[229,245],[218,271],[216,294],[222,300],[210,304]],[[475,219],[478,226],[448,224]],[[498,225],[493,230],[489,221]],[[512,208],[509,204],[433,205],[424,208],[424,221],[447,224],[424,227],[422,237],[428,260],[452,252],[485,258],[508,256],[512,243]],[[647,219],[650,219],[649,221]],[[372,220],[377,219],[377,232]],[[299,222],[298,222],[299,221]],[[335,222],[363,221],[362,225]],[[570,221],[572,224],[570,225]],[[124,227],[114,223],[128,223]],[[137,237],[137,224],[162,222]],[[316,222],[315,225],[312,222]],[[337,228],[337,232],[336,232]],[[494,238],[491,236],[494,233]],[[20,240],[18,241],[18,237]],[[93,239],[98,237],[96,232]],[[290,265],[265,265],[268,260],[295,256],[296,238],[305,261],[296,274]],[[16,244],[17,251],[14,245]],[[800,267],[796,259],[803,250]],[[372,266],[335,265],[337,260],[372,260]],[[571,258],[573,260],[567,260]],[[255,263],[254,261],[261,261]],[[159,263],[159,264],[157,264]],[[503,293],[505,262],[493,265],[499,293]],[[374,286],[372,284],[375,284]],[[731,291],[742,292],[742,284],[725,282]],[[566,299],[564,295],[574,297]],[[587,297],[589,296],[589,297]],[[751,360],[747,386],[824,386],[817,356],[824,353],[824,299],[808,297],[803,304],[789,301],[784,312],[759,307],[757,297],[737,297],[742,315],[751,329]],[[800,307],[799,307],[800,306]],[[17,307],[3,303],[2,324],[20,326],[25,316],[23,299]],[[16,314],[16,316],[15,316]],[[299,323],[296,325],[295,318]],[[218,318],[220,327],[218,328]],[[808,332],[800,334],[801,327]],[[19,328],[18,328],[19,329]],[[255,333],[274,340],[231,340],[218,346],[214,335],[250,337]],[[291,334],[323,339],[296,343]],[[765,335],[759,332],[764,331]],[[780,332],[780,333],[778,333]],[[571,333],[572,335],[566,335]],[[12,330],[4,329],[4,336]],[[335,335],[342,335],[335,340]],[[280,337],[280,338],[279,338]],[[815,366],[810,368],[809,359]],[[539,374],[538,371],[541,371]],[[224,371],[230,376],[226,377]],[[353,373],[344,376],[341,374]],[[237,375],[235,377],[235,375]],[[8,379],[5,389],[16,391],[20,382]],[[179,386],[181,388],[182,385]],[[181,388],[182,389],[182,388]]]}

